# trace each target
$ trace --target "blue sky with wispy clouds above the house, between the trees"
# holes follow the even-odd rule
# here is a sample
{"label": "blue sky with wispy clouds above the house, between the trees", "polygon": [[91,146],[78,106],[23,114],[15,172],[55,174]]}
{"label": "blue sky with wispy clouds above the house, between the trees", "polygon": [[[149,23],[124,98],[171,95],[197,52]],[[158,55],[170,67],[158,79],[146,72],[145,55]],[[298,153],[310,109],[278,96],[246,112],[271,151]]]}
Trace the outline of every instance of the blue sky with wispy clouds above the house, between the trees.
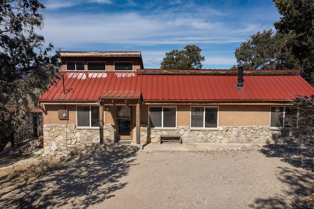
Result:
{"label": "blue sky with wispy clouds above the house, between the trees", "polygon": [[280,20],[272,0],[40,0],[37,31],[61,51],[141,51],[145,68],[197,45],[203,69],[230,69],[235,48]]}

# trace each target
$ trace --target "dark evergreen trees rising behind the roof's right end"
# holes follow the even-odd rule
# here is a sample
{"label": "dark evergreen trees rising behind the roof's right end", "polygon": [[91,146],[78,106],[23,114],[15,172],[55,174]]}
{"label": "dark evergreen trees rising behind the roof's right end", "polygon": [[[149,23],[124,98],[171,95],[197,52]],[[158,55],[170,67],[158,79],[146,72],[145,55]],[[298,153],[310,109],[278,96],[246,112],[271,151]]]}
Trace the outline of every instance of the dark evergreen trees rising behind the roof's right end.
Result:
{"label": "dark evergreen trees rising behind the roof's right end", "polygon": [[[314,0],[273,0],[282,15],[277,32],[264,30],[235,49],[245,69],[300,69],[314,84]],[[233,67],[235,68],[235,66]]]}

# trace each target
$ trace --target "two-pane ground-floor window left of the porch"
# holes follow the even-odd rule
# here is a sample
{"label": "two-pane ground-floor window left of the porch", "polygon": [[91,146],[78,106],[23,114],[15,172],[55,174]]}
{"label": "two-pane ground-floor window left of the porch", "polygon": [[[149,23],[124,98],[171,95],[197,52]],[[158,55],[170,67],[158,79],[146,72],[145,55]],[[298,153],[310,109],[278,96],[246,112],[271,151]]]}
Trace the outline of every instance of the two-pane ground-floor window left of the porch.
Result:
{"label": "two-pane ground-floor window left of the porch", "polygon": [[78,127],[99,127],[99,106],[77,106]]}

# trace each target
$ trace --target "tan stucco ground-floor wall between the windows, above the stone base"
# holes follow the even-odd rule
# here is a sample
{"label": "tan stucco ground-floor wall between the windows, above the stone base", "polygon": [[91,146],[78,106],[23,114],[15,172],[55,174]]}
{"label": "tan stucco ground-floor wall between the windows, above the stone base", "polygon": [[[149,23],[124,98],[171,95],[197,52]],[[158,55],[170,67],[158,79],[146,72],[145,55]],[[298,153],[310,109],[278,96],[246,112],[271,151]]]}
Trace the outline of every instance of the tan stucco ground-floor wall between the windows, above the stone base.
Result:
{"label": "tan stucco ground-floor wall between the windows, above the stone base", "polygon": [[[193,105],[195,106],[195,105]],[[206,105],[209,106],[209,105]],[[76,105],[46,105],[44,124],[76,124]],[[105,124],[114,125],[117,106],[104,107]],[[69,111],[69,120],[58,118],[58,109]],[[148,105],[140,107],[141,124],[148,125]],[[269,105],[219,105],[218,126],[268,126]],[[132,106],[132,125],[135,127],[136,107]],[[190,105],[177,105],[177,126],[190,126]]]}

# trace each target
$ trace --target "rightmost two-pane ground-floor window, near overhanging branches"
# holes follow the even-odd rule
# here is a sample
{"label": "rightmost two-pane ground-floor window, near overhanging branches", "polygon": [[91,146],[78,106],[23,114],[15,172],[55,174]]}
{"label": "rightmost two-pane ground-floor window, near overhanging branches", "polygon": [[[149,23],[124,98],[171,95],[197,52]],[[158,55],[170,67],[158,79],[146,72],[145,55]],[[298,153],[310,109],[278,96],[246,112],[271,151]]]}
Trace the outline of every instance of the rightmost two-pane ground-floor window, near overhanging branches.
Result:
{"label": "rightmost two-pane ground-floor window, near overhanging branches", "polygon": [[270,127],[297,128],[298,107],[296,106],[271,106]]}

